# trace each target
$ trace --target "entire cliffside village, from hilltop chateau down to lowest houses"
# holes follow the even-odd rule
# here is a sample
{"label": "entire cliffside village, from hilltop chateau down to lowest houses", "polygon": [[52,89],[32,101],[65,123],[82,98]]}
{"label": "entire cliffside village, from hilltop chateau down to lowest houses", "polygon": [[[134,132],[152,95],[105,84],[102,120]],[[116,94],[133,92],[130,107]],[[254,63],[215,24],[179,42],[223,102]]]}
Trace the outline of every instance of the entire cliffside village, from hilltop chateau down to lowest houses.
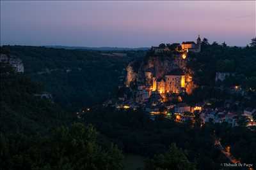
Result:
{"label": "entire cliffside village, from hilltop chateau down to lowest houses", "polygon": [[[142,60],[134,60],[126,68],[125,85],[119,87],[118,99],[109,100],[105,106],[115,106],[122,109],[142,109],[152,120],[158,116],[170,118],[176,122],[195,122],[196,115],[204,122],[227,122],[233,127],[238,125],[239,117],[243,116],[253,122],[253,108],[244,108],[243,113],[234,113],[225,108],[209,109],[207,101],[188,104],[184,97],[193,93],[198,87],[193,80],[193,70],[189,69],[189,53],[200,53],[202,41],[200,36],[194,41],[161,44],[152,46]],[[232,73],[216,72],[216,82],[223,81]],[[243,93],[239,87],[230,90],[231,93]],[[234,104],[234,103],[233,103]],[[227,108],[232,103],[225,102]]]}

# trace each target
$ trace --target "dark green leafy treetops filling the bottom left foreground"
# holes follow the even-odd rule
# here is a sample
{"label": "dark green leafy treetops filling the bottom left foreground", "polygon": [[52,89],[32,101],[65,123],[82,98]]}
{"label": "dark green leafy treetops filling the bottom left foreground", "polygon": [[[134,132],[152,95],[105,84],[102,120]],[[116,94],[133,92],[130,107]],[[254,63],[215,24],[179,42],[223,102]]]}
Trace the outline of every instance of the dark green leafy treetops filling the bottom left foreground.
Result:
{"label": "dark green leafy treetops filling the bottom left foreground", "polygon": [[[0,164],[3,169],[122,169],[122,153],[115,145],[103,148],[97,132],[75,123],[58,127],[45,137],[0,135]],[[19,148],[13,150],[13,148]]]}

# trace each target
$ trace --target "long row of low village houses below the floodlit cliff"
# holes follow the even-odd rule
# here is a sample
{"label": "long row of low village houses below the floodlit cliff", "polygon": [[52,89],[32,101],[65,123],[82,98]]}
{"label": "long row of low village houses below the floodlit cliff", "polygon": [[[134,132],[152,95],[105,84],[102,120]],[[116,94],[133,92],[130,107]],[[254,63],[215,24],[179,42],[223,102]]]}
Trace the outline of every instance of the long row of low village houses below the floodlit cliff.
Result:
{"label": "long row of low village houses below the floodlit cliff", "polygon": [[253,115],[256,114],[256,108],[246,108],[243,113],[237,113],[220,108],[216,108],[215,110],[207,108],[207,106],[205,107],[205,103],[199,103],[194,106],[189,106],[189,104],[186,103],[161,103],[157,101],[157,98],[143,105],[133,103],[132,101],[125,101],[122,104],[115,103],[112,106],[115,106],[118,110],[137,110],[138,108],[141,108],[148,113],[152,120],[155,120],[159,115],[163,115],[165,118],[174,118],[175,122],[186,122],[188,120],[195,122],[196,113],[200,115],[202,124],[207,122],[212,122],[214,124],[227,122],[232,127],[235,127],[239,125],[239,118],[243,116],[247,118],[248,126],[256,125],[255,120],[253,120]]}

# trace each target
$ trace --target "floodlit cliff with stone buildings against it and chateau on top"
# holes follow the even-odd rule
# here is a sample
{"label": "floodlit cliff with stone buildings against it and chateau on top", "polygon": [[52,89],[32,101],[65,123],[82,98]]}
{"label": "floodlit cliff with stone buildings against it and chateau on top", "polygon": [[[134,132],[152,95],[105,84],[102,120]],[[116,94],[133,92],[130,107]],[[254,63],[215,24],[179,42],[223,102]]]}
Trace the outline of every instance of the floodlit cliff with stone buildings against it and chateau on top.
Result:
{"label": "floodlit cliff with stone buildings against it and chateau on top", "polygon": [[192,71],[186,67],[188,52],[201,50],[200,36],[194,41],[152,46],[142,62],[127,66],[126,87],[134,87],[136,103],[147,103],[151,97],[168,101],[170,96],[191,94],[195,89]]}

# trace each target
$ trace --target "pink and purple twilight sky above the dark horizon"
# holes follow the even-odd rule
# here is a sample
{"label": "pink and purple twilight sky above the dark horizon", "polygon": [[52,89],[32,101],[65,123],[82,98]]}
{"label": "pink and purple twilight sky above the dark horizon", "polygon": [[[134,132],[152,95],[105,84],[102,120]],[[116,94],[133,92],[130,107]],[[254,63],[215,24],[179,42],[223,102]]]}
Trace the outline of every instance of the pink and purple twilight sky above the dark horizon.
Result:
{"label": "pink and purple twilight sky above the dark horizon", "polygon": [[1,45],[141,47],[195,41],[245,46],[255,1],[1,1]]}

